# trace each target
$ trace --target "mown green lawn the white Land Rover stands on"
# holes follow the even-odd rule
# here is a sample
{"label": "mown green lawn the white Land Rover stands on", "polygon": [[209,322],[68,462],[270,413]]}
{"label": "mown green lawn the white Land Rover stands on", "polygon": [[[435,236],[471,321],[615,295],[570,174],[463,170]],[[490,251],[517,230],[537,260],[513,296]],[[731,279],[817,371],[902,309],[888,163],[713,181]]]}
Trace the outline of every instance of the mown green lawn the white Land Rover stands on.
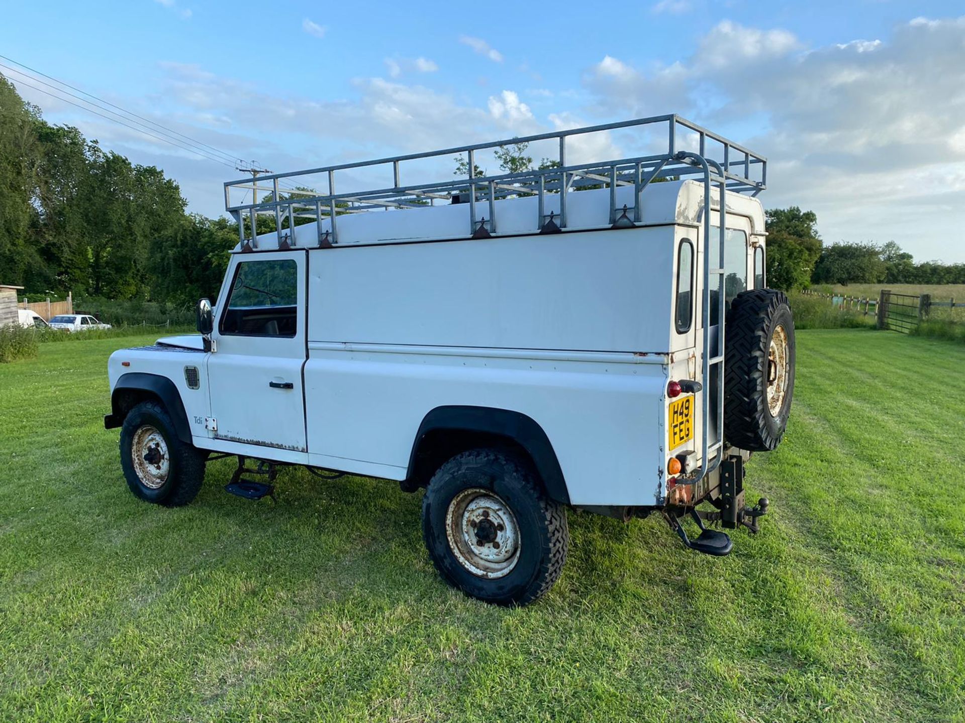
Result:
{"label": "mown green lawn the white Land Rover stands on", "polygon": [[0,364],[0,720],[965,721],[965,348],[798,336],[771,514],[730,557],[570,513],[540,603],[433,572],[419,495],[279,476],[279,501],[130,495],[104,362]]}

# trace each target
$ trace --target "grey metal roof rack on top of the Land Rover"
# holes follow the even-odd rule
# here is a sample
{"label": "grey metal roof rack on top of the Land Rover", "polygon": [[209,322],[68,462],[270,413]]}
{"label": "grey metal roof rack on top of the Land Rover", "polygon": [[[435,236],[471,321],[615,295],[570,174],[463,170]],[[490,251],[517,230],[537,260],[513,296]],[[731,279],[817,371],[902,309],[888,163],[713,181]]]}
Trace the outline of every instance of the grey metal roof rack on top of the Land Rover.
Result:
{"label": "grey metal roof rack on top of the Land Rover", "polygon": [[[567,163],[567,142],[570,139],[626,128],[636,128],[650,134],[656,131],[656,137],[659,139],[665,134],[666,141],[656,141],[657,152],[648,155],[582,164]],[[556,141],[559,148],[558,156],[544,163],[543,167],[510,174],[476,175],[476,161],[481,151],[491,152],[515,144],[540,141]],[[454,155],[464,155],[468,169],[465,176],[429,183],[403,183],[402,172],[409,170],[414,165],[412,162]],[[720,169],[719,175],[707,177],[707,167],[700,162],[704,158],[711,161],[715,170]],[[340,193],[340,177],[347,177],[349,172],[357,174],[359,170],[384,174],[385,184],[365,191]],[[636,194],[633,198],[639,199],[640,192],[654,180],[687,176],[720,182],[729,191],[757,196],[766,188],[767,159],[690,120],[676,115],[654,116],[373,161],[227,181],[224,184],[225,208],[238,224],[239,245],[242,250],[258,248],[259,215],[274,216],[279,239],[282,238],[283,228],[293,228],[296,225],[296,218],[311,218],[318,222],[319,246],[328,246],[338,243],[336,219],[339,216],[376,210],[422,208],[427,204],[434,205],[436,201],[465,202],[465,197],[468,197],[470,206],[470,227],[466,229],[466,235],[478,237],[495,232],[495,201],[522,196],[538,197],[538,228],[545,228],[546,224],[554,224],[554,228],[566,228],[566,193],[561,194],[561,191],[588,187],[610,189],[611,224],[618,220],[624,223],[639,223],[641,212],[637,201],[634,201],[635,207],[621,209],[620,215],[616,202],[618,187],[634,186]],[[286,183],[283,184],[283,181]],[[292,187],[291,182],[297,185]],[[321,186],[322,190],[317,190],[317,186]],[[239,192],[243,192],[245,197],[250,192],[252,202],[233,203],[233,192],[235,199]],[[260,192],[267,194],[261,202],[258,200]],[[546,194],[561,194],[558,203],[559,215],[556,215],[556,211],[551,211],[549,215],[544,213]],[[627,216],[627,213],[631,212],[632,219]],[[247,237],[246,216],[248,232],[251,233]],[[325,230],[322,230],[323,220],[329,222]],[[293,235],[289,235],[293,241]]]}

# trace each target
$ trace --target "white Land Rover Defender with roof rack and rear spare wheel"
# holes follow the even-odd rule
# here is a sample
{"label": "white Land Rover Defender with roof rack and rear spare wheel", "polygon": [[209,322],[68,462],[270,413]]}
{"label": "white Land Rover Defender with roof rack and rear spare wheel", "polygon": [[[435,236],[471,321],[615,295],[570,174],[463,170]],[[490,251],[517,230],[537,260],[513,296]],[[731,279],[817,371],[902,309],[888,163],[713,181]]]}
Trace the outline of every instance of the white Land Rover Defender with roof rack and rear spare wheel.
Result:
{"label": "white Land Rover Defender with roof rack and rear spare wheel", "polygon": [[[572,162],[630,133],[651,152]],[[521,143],[556,157],[480,175]],[[454,155],[468,174],[403,174]],[[656,512],[726,555],[705,523],[757,531],[744,465],[781,442],[794,386],[765,182],[763,157],[661,116],[226,183],[238,245],[201,335],[108,363],[127,484],[186,504],[211,454],[254,498],[285,465],[398,480],[426,490],[442,576],[491,603],[560,576],[567,507]]]}

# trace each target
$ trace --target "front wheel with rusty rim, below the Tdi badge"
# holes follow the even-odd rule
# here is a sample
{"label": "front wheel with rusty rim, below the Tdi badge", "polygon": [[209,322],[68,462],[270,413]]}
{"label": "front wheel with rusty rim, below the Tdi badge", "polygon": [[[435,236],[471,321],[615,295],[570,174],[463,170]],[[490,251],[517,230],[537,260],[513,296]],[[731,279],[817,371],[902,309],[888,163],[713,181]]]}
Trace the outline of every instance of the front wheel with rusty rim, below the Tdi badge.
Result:
{"label": "front wheel with rusty rim, below the Tdi badge", "polygon": [[179,507],[198,495],[207,455],[181,442],[174,422],[158,402],[142,402],[121,427],[121,468],[127,487],[141,499]]}

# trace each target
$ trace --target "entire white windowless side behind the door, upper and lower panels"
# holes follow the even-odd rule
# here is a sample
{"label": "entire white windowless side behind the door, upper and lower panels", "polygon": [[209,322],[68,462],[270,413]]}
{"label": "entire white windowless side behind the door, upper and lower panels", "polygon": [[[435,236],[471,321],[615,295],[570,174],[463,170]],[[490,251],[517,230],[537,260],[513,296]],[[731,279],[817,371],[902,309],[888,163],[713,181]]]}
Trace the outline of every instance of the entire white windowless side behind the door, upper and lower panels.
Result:
{"label": "entire white windowless side behind the door, upper and lower panels", "polygon": [[573,504],[660,504],[676,237],[671,225],[310,251],[313,464],[403,479],[430,411],[485,407],[538,423]]}

